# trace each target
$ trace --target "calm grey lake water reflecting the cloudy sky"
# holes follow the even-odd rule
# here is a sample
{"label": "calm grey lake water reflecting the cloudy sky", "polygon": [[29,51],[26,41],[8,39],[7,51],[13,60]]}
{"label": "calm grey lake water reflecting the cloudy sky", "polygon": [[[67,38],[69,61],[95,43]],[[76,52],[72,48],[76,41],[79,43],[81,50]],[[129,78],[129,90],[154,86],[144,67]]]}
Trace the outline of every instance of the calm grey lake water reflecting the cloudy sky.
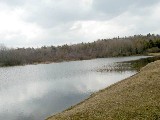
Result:
{"label": "calm grey lake water reflecting the cloudy sky", "polygon": [[97,72],[115,62],[146,56],[102,58],[0,68],[0,119],[44,120],[136,71]]}

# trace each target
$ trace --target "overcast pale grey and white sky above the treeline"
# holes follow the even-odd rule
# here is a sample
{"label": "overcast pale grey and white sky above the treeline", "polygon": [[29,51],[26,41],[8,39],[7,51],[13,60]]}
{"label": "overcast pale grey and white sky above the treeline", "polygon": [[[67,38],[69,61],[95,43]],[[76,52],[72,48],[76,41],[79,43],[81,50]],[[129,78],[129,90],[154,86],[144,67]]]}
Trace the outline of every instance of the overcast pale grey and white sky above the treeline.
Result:
{"label": "overcast pale grey and white sky above the treeline", "polygon": [[160,33],[160,0],[0,0],[0,43],[40,47]]}

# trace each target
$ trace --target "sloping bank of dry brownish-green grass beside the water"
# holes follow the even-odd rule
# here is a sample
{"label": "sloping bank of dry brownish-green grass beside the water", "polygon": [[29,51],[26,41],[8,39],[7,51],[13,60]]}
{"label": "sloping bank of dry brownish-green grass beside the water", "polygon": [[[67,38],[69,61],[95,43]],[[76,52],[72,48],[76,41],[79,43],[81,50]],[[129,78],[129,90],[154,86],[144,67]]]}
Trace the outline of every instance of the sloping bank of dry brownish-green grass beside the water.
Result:
{"label": "sloping bank of dry brownish-green grass beside the water", "polygon": [[46,120],[120,120],[160,118],[160,60],[139,73],[92,94]]}

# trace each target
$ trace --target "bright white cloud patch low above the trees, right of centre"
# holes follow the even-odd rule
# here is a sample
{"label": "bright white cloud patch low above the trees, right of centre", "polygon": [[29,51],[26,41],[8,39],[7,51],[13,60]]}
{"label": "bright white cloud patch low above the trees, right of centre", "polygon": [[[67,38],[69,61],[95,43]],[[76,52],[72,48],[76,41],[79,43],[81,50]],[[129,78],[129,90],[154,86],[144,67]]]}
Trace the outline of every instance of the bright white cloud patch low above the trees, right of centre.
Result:
{"label": "bright white cloud patch low above the trees, right of centre", "polygon": [[129,34],[133,26],[123,26],[110,21],[78,21],[70,28],[75,33],[83,36],[85,40],[97,40],[99,38],[112,38]]}

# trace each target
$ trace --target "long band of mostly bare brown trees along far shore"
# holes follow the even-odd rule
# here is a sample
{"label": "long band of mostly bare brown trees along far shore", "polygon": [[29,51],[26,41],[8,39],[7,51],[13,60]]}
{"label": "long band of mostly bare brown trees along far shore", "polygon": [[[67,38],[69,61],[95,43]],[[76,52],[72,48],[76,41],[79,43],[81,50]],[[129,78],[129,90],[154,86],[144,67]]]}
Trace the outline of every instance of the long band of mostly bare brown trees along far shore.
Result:
{"label": "long band of mostly bare brown trees along far shore", "polygon": [[0,66],[130,56],[159,51],[160,35],[154,34],[99,39],[92,43],[57,47],[9,49],[0,45]]}

